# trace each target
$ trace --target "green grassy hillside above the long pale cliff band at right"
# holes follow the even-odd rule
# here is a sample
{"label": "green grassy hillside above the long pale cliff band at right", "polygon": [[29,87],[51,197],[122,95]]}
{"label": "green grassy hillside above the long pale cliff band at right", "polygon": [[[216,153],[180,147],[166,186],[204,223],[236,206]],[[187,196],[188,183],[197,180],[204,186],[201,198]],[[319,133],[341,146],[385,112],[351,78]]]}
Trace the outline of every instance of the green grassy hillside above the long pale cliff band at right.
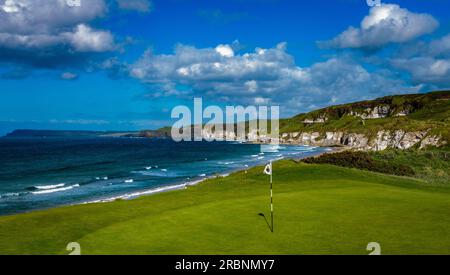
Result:
{"label": "green grassy hillside above the long pale cliff band at right", "polygon": [[[387,107],[377,119],[364,119],[368,110]],[[323,123],[310,123],[326,120]],[[308,122],[308,123],[305,123]],[[331,106],[280,121],[281,133],[344,131],[373,136],[381,130],[423,131],[450,141],[450,91],[387,96]]]}

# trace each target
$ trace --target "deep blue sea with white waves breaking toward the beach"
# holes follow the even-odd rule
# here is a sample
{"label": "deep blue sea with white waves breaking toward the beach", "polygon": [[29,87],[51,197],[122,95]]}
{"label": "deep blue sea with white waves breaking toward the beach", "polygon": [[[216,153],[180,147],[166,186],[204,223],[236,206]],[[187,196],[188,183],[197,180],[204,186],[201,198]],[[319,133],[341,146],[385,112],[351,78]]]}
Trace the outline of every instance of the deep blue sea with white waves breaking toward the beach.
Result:
{"label": "deep blue sea with white waves breaking toward the beach", "polygon": [[5,137],[0,138],[0,215],[133,199],[326,150],[146,138]]}

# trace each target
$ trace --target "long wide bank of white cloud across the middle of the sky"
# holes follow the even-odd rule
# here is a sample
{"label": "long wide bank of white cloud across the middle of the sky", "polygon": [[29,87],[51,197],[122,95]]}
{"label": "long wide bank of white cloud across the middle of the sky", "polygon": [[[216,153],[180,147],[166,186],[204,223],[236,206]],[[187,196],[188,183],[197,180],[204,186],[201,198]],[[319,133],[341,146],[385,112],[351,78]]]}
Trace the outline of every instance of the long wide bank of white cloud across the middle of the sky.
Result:
{"label": "long wide bank of white cloud across the middle of the sky", "polygon": [[417,90],[386,72],[369,72],[350,58],[299,67],[286,46],[280,43],[239,54],[224,44],[204,49],[179,45],[169,55],[147,51],[130,72],[162,91],[154,96],[195,95],[230,104],[270,102],[293,113]]}

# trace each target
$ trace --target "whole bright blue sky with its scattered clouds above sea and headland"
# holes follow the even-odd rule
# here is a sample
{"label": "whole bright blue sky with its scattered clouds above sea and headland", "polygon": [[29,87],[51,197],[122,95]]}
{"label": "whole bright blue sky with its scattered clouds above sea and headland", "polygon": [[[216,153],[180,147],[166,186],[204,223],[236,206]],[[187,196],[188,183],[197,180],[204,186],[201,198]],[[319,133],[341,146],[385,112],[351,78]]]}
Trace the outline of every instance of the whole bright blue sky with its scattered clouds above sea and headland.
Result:
{"label": "whole bright blue sky with its scattered clouds above sea and headland", "polygon": [[173,107],[332,104],[450,86],[446,0],[0,0],[0,134],[137,130]]}

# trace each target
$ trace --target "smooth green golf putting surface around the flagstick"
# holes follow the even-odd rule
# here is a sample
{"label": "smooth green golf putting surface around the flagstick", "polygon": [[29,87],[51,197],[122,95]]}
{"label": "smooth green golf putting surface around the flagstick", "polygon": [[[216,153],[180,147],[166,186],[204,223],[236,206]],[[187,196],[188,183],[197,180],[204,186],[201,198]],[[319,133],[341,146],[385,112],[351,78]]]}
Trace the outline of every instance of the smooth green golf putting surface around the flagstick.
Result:
{"label": "smooth green golf putting surface around the flagstick", "polygon": [[0,254],[450,254],[450,190],[329,165],[275,164],[133,201],[0,217]]}

